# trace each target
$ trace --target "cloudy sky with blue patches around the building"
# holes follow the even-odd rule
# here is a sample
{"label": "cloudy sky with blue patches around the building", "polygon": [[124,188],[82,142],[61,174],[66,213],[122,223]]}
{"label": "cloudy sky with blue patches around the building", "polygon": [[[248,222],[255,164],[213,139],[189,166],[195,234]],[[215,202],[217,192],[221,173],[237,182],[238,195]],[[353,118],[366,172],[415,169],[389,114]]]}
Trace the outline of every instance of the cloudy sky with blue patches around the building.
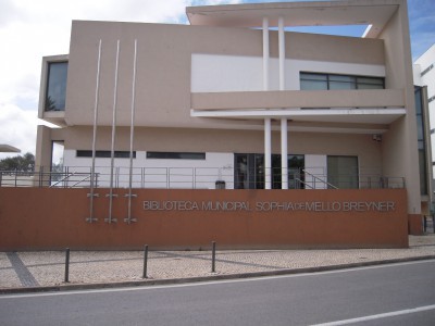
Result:
{"label": "cloudy sky with blue patches around the building", "polygon": [[[0,0],[0,143],[35,153],[36,126],[44,124],[37,118],[41,58],[69,53],[72,20],[187,24],[186,7],[240,2],[279,1]],[[408,7],[417,59],[435,42],[435,0],[408,0]]]}

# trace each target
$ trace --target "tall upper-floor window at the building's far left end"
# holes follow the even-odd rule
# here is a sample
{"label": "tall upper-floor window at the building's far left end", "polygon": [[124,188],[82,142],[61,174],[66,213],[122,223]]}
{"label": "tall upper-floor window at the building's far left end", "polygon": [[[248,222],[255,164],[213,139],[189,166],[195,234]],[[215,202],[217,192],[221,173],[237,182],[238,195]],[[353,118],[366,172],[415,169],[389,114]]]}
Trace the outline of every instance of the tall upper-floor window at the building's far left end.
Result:
{"label": "tall upper-floor window at the building's far left end", "polygon": [[67,62],[50,62],[47,72],[46,111],[64,111]]}

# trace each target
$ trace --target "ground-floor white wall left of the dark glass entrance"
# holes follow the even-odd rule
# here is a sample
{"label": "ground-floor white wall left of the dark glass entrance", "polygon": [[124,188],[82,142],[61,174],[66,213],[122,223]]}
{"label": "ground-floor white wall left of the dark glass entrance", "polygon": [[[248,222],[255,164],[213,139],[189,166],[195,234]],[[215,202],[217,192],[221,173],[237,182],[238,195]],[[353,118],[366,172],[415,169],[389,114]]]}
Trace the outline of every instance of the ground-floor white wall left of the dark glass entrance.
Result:
{"label": "ground-floor white wall left of the dark glass entrance", "polygon": [[[83,173],[71,177],[69,184],[83,179],[90,173],[90,158],[77,158],[75,150],[64,151],[64,166],[69,172]],[[110,187],[111,159],[96,159],[98,186]],[[113,185],[127,188],[129,184],[129,159],[114,159]],[[234,154],[206,153],[206,160],[157,160],[147,159],[145,151],[137,151],[133,159],[134,188],[197,188],[214,189],[216,180],[224,180],[226,188],[234,187]],[[78,186],[86,187],[89,179]],[[62,185],[60,185],[62,186]]]}

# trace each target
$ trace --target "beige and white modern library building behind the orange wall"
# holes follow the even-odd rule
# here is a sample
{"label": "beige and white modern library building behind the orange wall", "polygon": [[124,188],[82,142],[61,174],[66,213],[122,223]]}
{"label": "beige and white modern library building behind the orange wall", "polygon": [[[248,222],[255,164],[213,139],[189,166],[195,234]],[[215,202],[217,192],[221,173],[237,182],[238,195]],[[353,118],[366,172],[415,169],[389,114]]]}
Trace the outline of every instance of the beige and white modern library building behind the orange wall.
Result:
{"label": "beige and white modern library building behind the orange wall", "polygon": [[[38,166],[62,142],[84,186],[98,175],[110,188],[406,187],[420,223],[430,199],[406,0],[186,13],[190,25],[72,23],[70,53],[42,60],[38,116],[60,128],[38,127]],[[331,25],[366,30],[286,30]]]}

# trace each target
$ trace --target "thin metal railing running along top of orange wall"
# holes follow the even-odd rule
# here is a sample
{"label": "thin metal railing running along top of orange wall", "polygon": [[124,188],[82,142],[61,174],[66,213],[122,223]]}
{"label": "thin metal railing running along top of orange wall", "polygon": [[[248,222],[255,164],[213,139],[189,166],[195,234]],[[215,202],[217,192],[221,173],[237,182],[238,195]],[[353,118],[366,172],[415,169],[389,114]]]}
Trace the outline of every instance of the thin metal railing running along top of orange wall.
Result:
{"label": "thin metal railing running along top of orange wall", "polygon": [[[250,174],[224,167],[129,167],[117,166],[113,174],[108,166],[95,168],[94,180],[90,167],[70,166],[49,171],[40,167],[34,172],[0,171],[0,187],[49,187],[49,188],[109,188],[113,176],[113,188],[153,189],[246,189],[264,188],[264,173]],[[279,170],[281,172],[281,170]],[[272,173],[272,188],[281,189],[281,175]],[[334,175],[314,174],[307,170],[288,173],[289,189],[384,189],[405,188],[403,177],[385,177],[375,174]],[[248,180],[249,179],[249,180]]]}

